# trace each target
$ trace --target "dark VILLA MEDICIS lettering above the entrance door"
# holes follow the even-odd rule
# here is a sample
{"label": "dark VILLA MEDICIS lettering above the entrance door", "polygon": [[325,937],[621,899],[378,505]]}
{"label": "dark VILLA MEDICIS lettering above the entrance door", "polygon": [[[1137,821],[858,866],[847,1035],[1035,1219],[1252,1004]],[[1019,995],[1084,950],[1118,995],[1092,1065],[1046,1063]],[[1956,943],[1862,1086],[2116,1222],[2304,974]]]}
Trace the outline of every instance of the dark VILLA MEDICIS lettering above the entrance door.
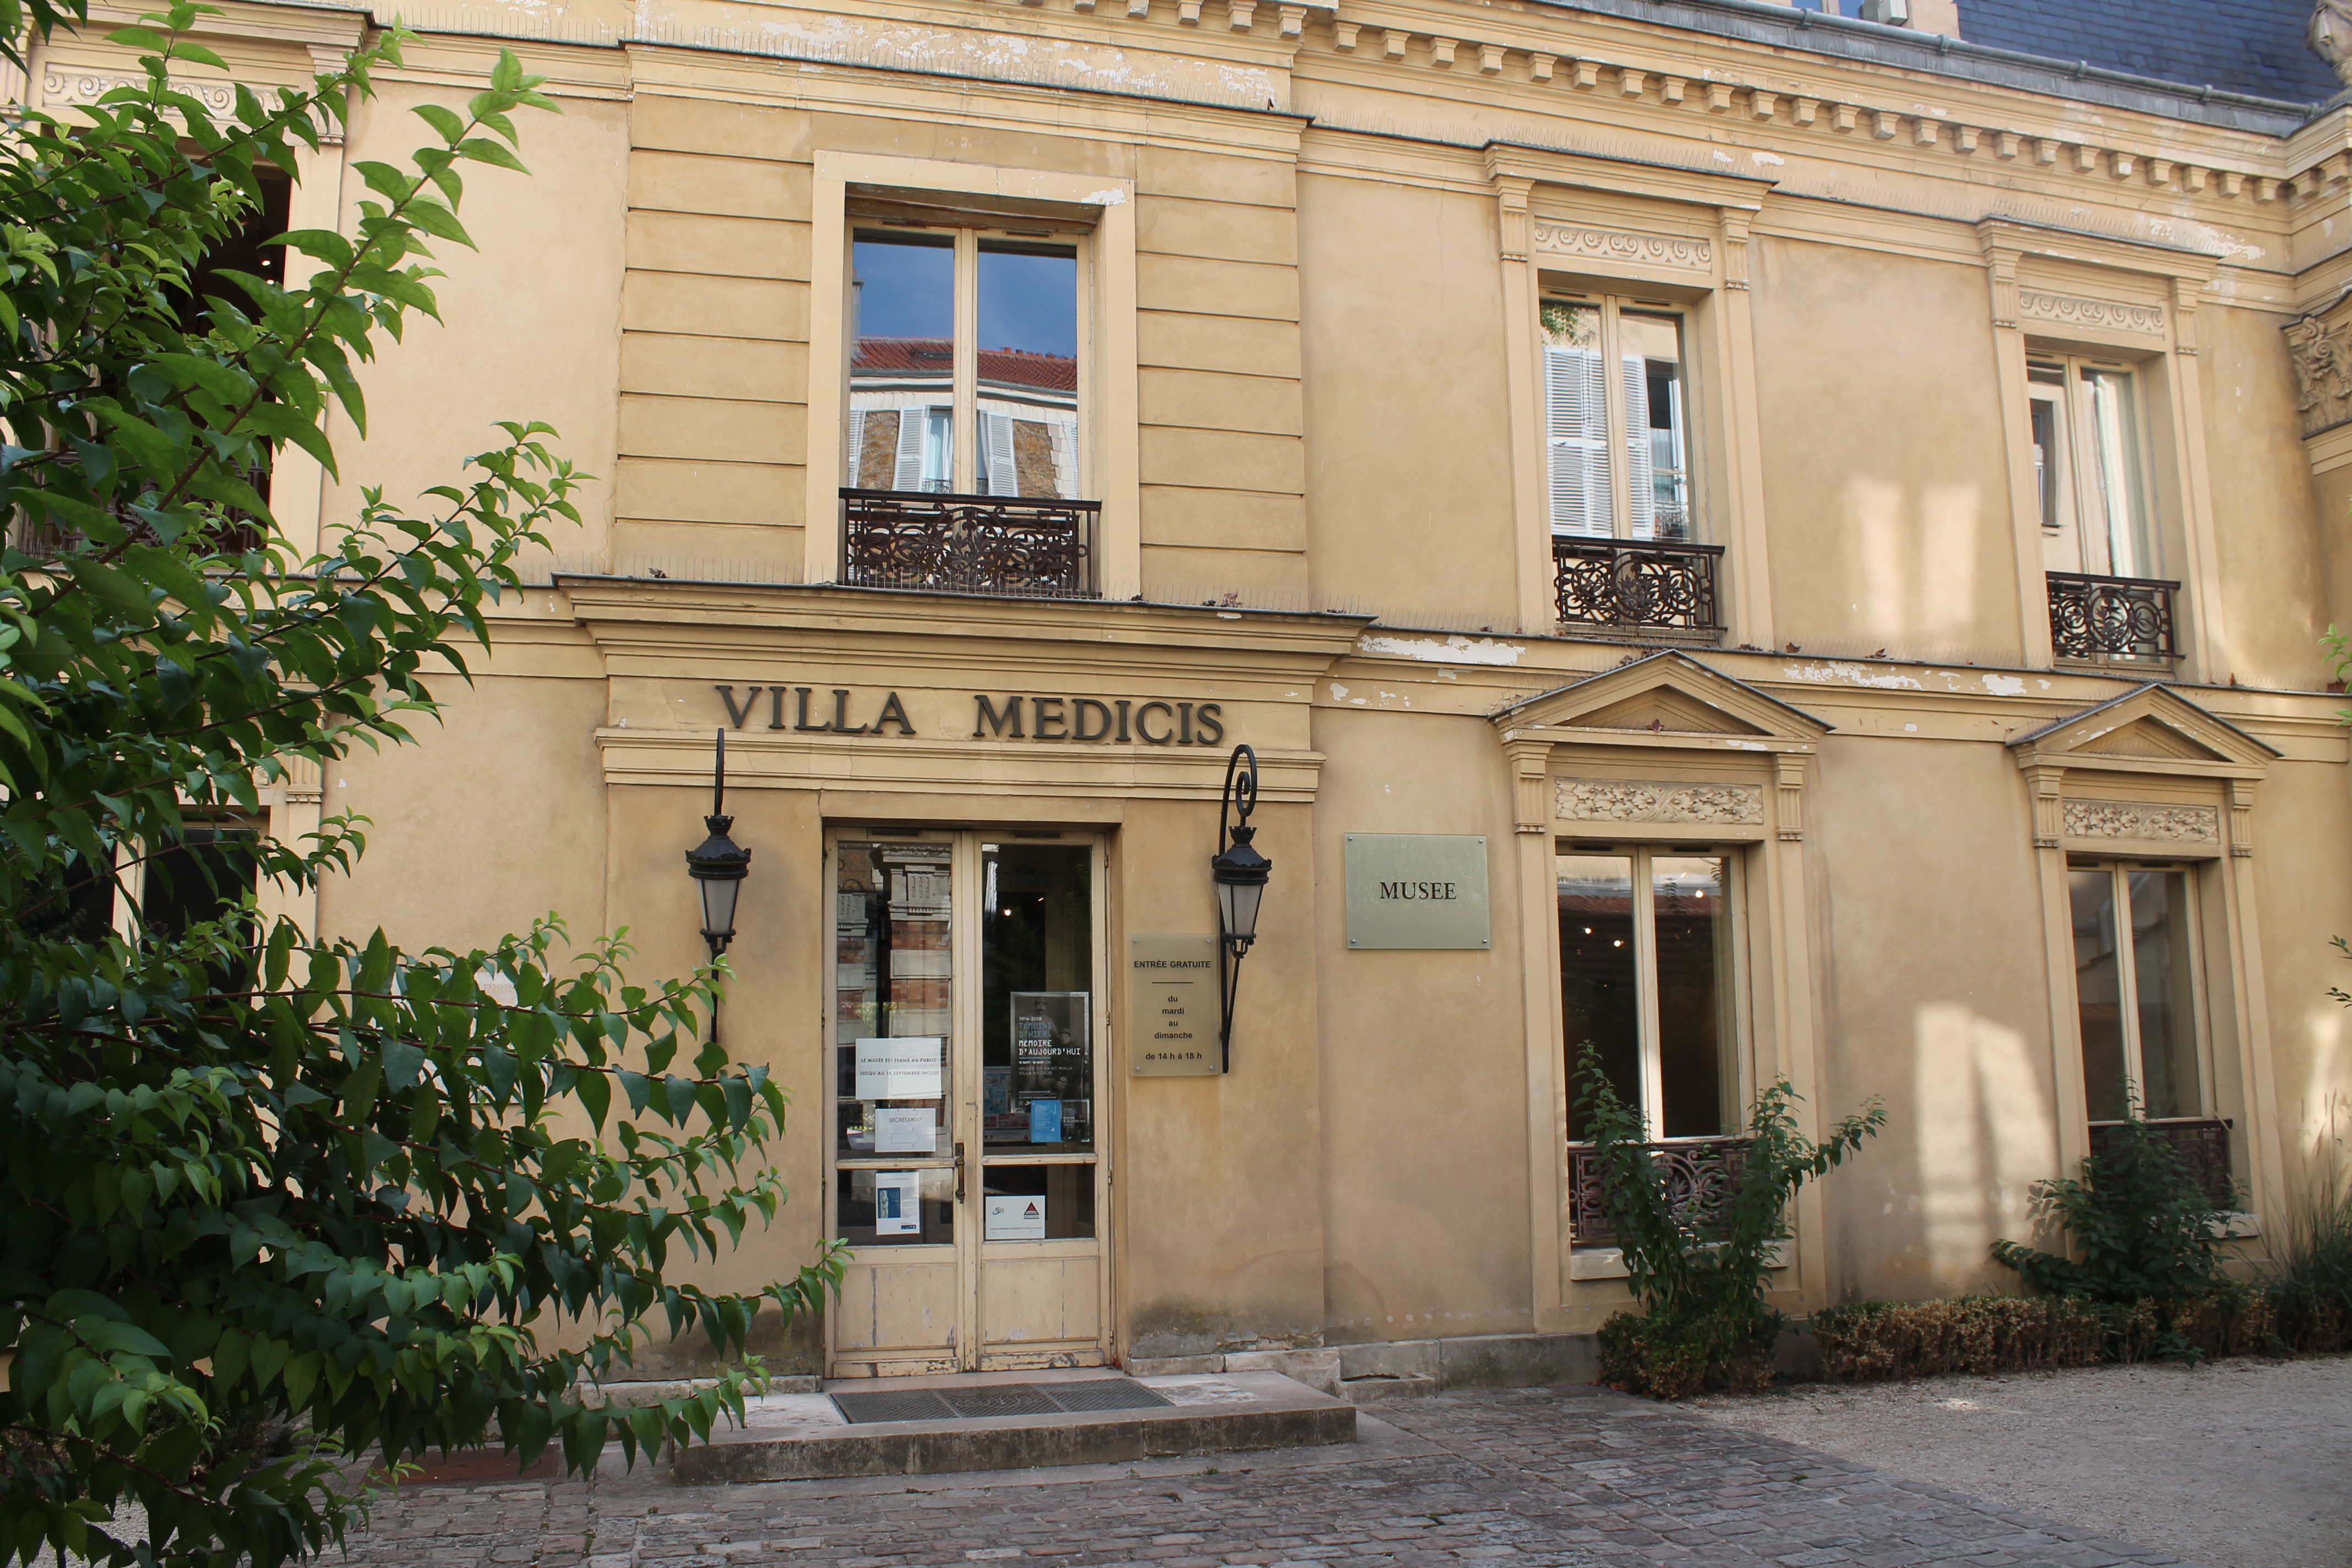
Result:
{"label": "dark VILLA MEDICIS lettering above the entrance door", "polygon": [[[814,736],[913,736],[915,722],[896,691],[873,693],[849,686],[713,686],[727,703],[727,722],[736,729],[764,719],[764,729]],[[1101,701],[1091,696],[1002,698],[971,693],[974,741],[1108,741],[1112,745],[1221,745],[1225,741],[1223,703],[1138,703],[1134,698]],[[858,722],[873,715],[873,722]]]}

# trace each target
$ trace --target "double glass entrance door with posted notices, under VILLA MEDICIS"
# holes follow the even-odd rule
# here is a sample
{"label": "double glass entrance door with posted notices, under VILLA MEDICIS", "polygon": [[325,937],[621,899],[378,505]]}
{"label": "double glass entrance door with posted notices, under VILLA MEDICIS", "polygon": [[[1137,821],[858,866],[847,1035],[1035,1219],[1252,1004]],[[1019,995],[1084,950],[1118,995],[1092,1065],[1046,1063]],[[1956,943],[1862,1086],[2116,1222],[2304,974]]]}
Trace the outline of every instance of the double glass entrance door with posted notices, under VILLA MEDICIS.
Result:
{"label": "double glass entrance door with posted notices, under VILLA MEDICIS", "polygon": [[1101,1366],[1101,842],[835,830],[833,1375]]}

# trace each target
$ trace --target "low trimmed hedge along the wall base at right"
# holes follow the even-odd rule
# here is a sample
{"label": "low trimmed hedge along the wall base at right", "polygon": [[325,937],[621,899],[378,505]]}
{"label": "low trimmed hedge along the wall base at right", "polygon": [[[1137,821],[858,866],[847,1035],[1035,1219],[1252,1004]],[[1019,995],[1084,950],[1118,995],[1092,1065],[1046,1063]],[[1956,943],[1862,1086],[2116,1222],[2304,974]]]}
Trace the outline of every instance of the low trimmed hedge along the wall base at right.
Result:
{"label": "low trimmed hedge along the wall base at right", "polygon": [[[1820,1375],[1828,1382],[1882,1382],[1943,1373],[2032,1373],[2100,1361],[2178,1354],[2185,1340],[2206,1359],[2338,1349],[2345,1324],[2281,1338],[2279,1314],[2258,1291],[2211,1295],[2171,1309],[2157,1302],[2103,1307],[2065,1295],[1955,1295],[1933,1302],[1853,1302],[1813,1314]],[[2178,1338],[2173,1338],[2178,1335]]]}

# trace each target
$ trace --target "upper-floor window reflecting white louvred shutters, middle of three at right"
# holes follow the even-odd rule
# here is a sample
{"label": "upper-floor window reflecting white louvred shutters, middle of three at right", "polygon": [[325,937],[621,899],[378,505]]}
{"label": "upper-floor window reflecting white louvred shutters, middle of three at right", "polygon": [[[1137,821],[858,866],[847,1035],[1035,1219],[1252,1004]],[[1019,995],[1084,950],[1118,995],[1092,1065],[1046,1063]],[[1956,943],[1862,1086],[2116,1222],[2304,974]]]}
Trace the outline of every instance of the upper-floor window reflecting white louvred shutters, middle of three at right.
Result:
{"label": "upper-floor window reflecting white louvred shutters, middle of three at right", "polygon": [[1691,538],[1684,388],[1677,313],[1606,296],[1543,301],[1555,534]]}

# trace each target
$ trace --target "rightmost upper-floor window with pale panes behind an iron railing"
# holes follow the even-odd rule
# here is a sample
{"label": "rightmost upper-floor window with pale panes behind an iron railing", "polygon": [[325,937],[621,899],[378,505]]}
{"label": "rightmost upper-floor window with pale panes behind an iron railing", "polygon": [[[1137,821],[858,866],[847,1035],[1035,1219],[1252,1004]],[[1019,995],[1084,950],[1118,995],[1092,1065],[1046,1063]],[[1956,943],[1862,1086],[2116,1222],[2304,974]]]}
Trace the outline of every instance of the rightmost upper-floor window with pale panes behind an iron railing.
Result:
{"label": "rightmost upper-floor window with pale panes behind an iron railing", "polygon": [[2034,357],[2025,374],[2046,567],[2161,576],[2138,374],[2129,364],[2074,357]]}

